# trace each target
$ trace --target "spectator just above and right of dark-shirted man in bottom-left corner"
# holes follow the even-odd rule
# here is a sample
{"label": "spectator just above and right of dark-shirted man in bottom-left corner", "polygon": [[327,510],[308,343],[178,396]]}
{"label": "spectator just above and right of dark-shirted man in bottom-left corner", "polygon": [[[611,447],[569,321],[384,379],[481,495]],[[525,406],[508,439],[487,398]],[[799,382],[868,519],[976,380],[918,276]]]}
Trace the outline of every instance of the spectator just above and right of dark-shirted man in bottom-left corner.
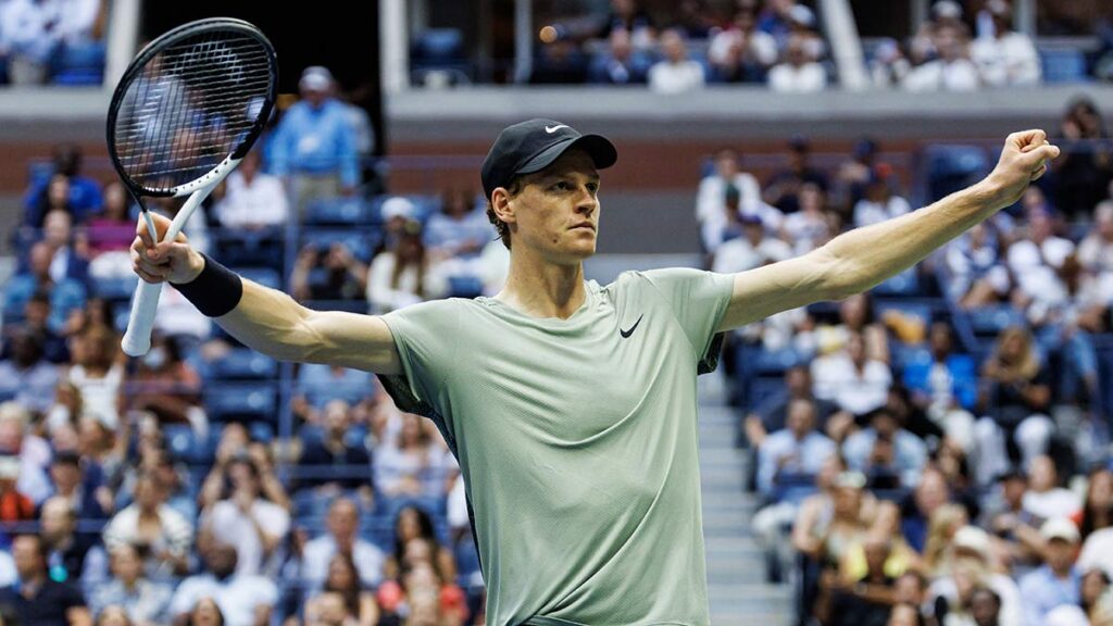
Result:
{"label": "spectator just above and right of dark-shirted man in bottom-left corner", "polygon": [[47,546],[50,578],[81,584],[87,588],[102,580],[107,570],[105,551],[96,536],[77,531],[77,511],[61,496],[42,502],[39,535]]}

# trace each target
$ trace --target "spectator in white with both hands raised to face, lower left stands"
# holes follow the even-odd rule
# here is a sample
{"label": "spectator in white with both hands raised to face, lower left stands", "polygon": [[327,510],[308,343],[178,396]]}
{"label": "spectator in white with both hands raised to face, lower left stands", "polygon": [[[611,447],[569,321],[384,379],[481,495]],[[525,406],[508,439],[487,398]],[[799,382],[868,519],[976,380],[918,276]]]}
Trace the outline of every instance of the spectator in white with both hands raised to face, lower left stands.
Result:
{"label": "spectator in white with both hands raised to face, lower left stands", "polygon": [[203,498],[210,498],[216,480],[228,485],[224,497],[201,511],[200,527],[217,542],[236,548],[236,574],[242,576],[277,571],[279,547],[289,532],[286,508],[262,497],[264,482],[280,489],[273,476],[262,476],[264,471],[254,459],[237,456],[224,468],[214,468],[203,488]]}

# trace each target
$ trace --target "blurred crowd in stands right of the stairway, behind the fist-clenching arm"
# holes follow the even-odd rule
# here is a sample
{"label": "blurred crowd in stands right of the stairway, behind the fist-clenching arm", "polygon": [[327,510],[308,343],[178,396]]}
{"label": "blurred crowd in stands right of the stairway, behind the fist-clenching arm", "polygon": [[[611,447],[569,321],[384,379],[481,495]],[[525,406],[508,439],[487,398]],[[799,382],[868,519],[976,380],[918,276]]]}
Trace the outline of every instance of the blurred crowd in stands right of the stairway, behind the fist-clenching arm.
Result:
{"label": "blurred crowd in stands right of the stairway, behind the fist-clenching arm", "polygon": [[[799,624],[1113,624],[1113,140],[1085,99],[1053,135],[1023,199],[918,268],[729,338],[754,531]],[[700,184],[717,272],[915,206],[870,139],[820,168],[794,138],[760,183],[746,156]]]}

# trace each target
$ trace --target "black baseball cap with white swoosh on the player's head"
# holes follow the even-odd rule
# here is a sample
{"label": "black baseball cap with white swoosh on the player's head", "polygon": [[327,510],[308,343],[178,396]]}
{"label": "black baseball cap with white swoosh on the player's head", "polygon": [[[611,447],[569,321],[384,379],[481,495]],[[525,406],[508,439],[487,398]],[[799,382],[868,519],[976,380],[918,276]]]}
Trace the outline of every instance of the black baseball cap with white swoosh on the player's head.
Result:
{"label": "black baseball cap with white swoosh on the player's head", "polygon": [[514,176],[541,172],[572,147],[587,151],[597,169],[610,167],[619,158],[614,144],[601,135],[581,135],[555,119],[534,118],[499,134],[483,159],[483,192],[490,199],[495,188],[505,187]]}

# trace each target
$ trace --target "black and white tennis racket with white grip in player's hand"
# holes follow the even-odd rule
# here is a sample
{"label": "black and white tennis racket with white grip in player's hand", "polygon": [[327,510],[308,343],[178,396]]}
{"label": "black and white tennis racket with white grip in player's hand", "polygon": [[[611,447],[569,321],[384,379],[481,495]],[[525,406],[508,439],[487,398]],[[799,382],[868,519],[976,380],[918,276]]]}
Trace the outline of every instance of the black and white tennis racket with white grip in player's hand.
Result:
{"label": "black and white tennis racket with white grip in player's hand", "polygon": [[[144,197],[185,197],[165,239],[252,148],[274,107],[278,65],[254,26],[230,18],[190,22],[147,45],[128,66],[108,109],[108,151],[159,241]],[[140,281],[124,352],[150,349],[161,284]]]}

